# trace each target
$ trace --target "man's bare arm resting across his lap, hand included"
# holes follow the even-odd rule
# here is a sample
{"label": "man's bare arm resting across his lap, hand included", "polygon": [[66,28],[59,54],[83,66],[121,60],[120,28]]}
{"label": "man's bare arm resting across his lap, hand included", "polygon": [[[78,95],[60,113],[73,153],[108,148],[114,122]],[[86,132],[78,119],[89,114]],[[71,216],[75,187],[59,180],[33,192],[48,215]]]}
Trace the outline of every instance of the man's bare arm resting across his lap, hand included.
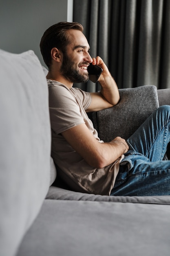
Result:
{"label": "man's bare arm resting across his lap, hand included", "polygon": [[121,137],[116,137],[108,143],[100,143],[85,124],[79,124],[62,132],[62,136],[90,166],[95,168],[112,164],[129,148]]}

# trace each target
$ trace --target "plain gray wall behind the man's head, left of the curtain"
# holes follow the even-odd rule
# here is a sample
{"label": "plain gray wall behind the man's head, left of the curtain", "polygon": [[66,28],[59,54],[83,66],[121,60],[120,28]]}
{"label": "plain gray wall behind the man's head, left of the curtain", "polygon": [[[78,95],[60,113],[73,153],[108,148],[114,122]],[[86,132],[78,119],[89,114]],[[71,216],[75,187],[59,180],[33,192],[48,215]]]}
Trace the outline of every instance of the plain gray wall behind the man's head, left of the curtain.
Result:
{"label": "plain gray wall behind the man's head, left of the curtain", "polygon": [[73,0],[0,0],[0,49],[40,53],[44,31],[60,21],[72,21]]}

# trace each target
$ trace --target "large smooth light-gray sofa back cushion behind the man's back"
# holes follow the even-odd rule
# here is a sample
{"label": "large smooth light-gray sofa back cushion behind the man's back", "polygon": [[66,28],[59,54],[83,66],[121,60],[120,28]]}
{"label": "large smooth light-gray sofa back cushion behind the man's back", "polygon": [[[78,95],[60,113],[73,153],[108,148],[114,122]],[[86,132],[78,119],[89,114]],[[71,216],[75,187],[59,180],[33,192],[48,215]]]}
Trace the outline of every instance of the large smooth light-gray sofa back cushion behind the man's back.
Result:
{"label": "large smooth light-gray sofa back cushion behind the man's back", "polygon": [[0,255],[12,256],[50,184],[48,87],[33,51],[0,50]]}

